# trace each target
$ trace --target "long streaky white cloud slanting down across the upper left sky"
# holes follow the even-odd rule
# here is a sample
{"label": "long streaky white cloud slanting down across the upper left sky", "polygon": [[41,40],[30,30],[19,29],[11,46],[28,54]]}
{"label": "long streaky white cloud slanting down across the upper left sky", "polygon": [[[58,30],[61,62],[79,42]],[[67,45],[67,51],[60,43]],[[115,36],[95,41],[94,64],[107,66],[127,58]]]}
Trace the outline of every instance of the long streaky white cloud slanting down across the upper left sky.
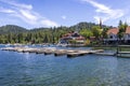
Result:
{"label": "long streaky white cloud slanting down across the upper left sky", "polygon": [[32,10],[31,4],[16,3],[15,1],[0,0],[10,6],[10,9],[0,8],[0,12],[8,13],[11,16],[18,17],[23,22],[26,22],[32,26],[42,26],[42,27],[57,27],[58,24],[52,22],[48,18],[44,18],[39,13]]}

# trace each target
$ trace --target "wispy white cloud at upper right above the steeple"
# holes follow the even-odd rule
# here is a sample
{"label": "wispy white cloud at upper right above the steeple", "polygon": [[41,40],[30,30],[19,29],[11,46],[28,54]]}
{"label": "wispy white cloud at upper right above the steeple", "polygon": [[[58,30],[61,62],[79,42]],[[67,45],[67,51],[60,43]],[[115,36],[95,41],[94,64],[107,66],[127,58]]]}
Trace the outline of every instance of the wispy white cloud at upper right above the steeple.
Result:
{"label": "wispy white cloud at upper right above the steeple", "polygon": [[81,1],[88,2],[92,6],[96,8],[95,12],[99,13],[99,15],[94,15],[94,19],[96,22],[99,22],[100,18],[102,18],[103,22],[106,22],[108,19],[117,19],[125,15],[125,12],[122,10],[110,9],[109,6],[95,2],[94,0],[81,0]]}

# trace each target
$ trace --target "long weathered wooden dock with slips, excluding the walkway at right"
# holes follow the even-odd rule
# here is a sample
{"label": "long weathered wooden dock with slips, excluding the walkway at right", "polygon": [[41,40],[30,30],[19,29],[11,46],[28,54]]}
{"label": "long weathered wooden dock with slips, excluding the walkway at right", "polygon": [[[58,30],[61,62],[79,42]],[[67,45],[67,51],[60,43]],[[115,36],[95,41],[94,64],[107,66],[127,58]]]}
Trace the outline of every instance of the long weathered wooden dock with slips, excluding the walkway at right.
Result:
{"label": "long weathered wooden dock with slips, excluding the walkway at right", "polygon": [[18,52],[18,53],[36,53],[36,54],[44,54],[50,55],[54,54],[54,56],[61,56],[66,55],[67,57],[77,57],[77,56],[83,56],[88,54],[95,54],[95,53],[102,53],[103,49],[96,49],[96,51],[87,51],[87,49],[57,49],[57,48],[32,48],[32,47],[4,47],[2,51],[10,51],[10,52]]}

